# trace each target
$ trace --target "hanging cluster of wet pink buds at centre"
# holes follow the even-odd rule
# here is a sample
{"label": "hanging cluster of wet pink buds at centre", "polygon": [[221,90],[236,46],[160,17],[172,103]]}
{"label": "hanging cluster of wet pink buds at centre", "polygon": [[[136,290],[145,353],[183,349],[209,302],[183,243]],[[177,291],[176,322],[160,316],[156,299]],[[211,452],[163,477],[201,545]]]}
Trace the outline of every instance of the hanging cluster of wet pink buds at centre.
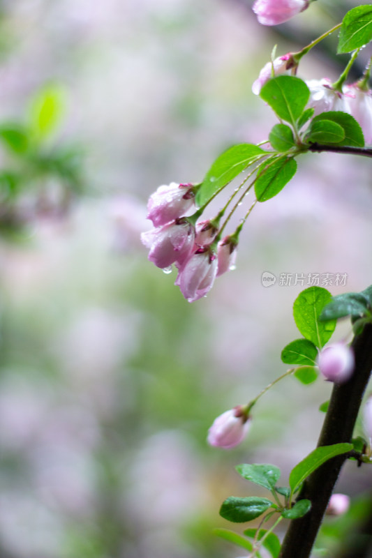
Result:
{"label": "hanging cluster of wet pink buds at centre", "polygon": [[[160,186],[149,198],[147,218],[154,228],[141,240],[149,248],[149,260],[161,269],[178,269],[175,285],[188,302],[205,296],[214,280],[235,264],[237,237],[218,240],[214,220],[195,224],[195,186],[171,183]],[[196,213],[198,215],[198,212]]]}

